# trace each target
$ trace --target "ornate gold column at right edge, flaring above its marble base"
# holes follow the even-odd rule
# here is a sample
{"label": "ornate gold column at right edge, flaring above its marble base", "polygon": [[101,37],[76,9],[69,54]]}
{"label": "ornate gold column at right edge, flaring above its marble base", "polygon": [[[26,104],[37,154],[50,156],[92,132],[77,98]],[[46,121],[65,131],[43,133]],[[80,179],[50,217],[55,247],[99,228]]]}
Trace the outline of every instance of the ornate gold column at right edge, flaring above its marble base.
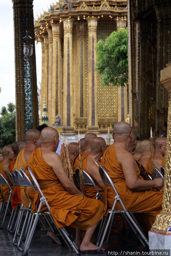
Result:
{"label": "ornate gold column at right edge, flaring above its marble base", "polygon": [[[156,238],[160,236],[160,242],[158,247],[155,249],[164,249],[166,246],[170,249],[170,220],[171,220],[171,63],[166,65],[167,67],[161,70],[160,82],[165,86],[167,91],[170,93],[168,101],[168,119],[167,119],[167,143],[166,143],[166,164],[164,172],[164,194],[162,211],[156,216],[155,222],[149,231],[149,242],[152,245]],[[164,235],[162,235],[163,233]],[[168,235],[168,236],[167,236]],[[169,243],[165,244],[165,241],[169,240]],[[160,248],[162,246],[162,248]],[[153,249],[153,248],[149,248]]]}

